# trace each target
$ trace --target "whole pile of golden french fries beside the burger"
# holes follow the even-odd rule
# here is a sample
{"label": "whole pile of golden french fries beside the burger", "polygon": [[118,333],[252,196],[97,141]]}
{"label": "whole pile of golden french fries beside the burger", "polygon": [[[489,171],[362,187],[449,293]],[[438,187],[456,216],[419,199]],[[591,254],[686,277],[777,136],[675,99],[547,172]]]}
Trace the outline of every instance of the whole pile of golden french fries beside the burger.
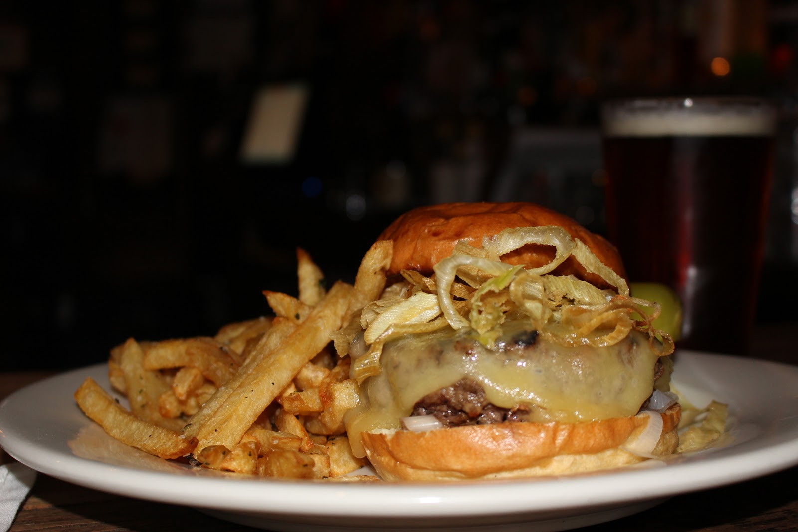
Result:
{"label": "whole pile of golden french fries beside the burger", "polygon": [[391,242],[375,243],[354,285],[338,281],[328,290],[322,270],[298,249],[298,297],[263,292],[274,316],[225,325],[212,337],[130,338],[109,357],[111,386],[129,410],[90,377],[75,392],[77,404],[109,435],[164,459],[340,479],[363,460],[343,424],[358,388],[333,340],[379,298],[392,252]]}

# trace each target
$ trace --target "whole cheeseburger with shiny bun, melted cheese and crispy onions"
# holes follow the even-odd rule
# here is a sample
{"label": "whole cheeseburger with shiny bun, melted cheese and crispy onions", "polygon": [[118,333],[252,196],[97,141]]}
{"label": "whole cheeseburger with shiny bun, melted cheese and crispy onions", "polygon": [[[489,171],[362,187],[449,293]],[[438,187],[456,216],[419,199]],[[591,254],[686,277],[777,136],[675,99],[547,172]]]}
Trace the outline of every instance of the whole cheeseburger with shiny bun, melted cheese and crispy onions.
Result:
{"label": "whole cheeseburger with shiny bun, melted cheese and crispy onions", "polygon": [[674,452],[673,341],[610,242],[531,203],[421,207],[378,241],[393,244],[389,282],[337,347],[359,387],[351,447],[383,479],[558,475]]}

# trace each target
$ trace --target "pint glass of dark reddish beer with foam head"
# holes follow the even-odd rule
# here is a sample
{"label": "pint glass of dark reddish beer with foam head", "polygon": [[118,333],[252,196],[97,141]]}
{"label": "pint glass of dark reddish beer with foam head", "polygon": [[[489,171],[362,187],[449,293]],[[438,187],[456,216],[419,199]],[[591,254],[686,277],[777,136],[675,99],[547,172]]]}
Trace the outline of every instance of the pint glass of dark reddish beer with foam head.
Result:
{"label": "pint glass of dark reddish beer with foam head", "polygon": [[602,106],[608,236],[630,281],[681,298],[678,347],[749,351],[775,133],[775,108],[753,97]]}

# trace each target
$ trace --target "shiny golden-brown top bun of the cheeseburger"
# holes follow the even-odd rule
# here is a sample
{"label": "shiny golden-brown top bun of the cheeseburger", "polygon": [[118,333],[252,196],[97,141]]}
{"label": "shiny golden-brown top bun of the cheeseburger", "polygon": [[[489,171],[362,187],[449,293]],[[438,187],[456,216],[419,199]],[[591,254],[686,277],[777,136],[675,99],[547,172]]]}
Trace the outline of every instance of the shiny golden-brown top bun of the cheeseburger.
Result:
{"label": "shiny golden-brown top bun of the cheeseburger", "polygon": [[[393,221],[377,240],[393,240],[393,259],[388,274],[418,270],[431,274],[433,266],[452,254],[460,240],[482,247],[482,238],[499,234],[508,227],[563,227],[571,238],[578,238],[606,266],[626,278],[618,249],[599,234],[593,234],[565,215],[534,203],[443,203],[418,207]],[[502,262],[543,266],[554,258],[552,246],[527,244],[502,256]],[[610,288],[598,275],[588,273],[573,257],[568,257],[553,272],[573,274],[599,288]]]}

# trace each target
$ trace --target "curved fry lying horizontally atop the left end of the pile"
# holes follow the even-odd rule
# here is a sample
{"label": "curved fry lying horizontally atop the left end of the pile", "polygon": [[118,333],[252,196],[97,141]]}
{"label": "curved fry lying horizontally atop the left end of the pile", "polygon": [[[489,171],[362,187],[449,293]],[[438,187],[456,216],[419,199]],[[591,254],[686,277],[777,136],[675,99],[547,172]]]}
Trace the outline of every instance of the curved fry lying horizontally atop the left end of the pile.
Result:
{"label": "curved fry lying horizontally atop the left end of the pile", "polygon": [[221,386],[230,380],[239,367],[230,349],[210,337],[181,338],[153,342],[144,349],[144,369],[182,368],[192,366],[203,376]]}

